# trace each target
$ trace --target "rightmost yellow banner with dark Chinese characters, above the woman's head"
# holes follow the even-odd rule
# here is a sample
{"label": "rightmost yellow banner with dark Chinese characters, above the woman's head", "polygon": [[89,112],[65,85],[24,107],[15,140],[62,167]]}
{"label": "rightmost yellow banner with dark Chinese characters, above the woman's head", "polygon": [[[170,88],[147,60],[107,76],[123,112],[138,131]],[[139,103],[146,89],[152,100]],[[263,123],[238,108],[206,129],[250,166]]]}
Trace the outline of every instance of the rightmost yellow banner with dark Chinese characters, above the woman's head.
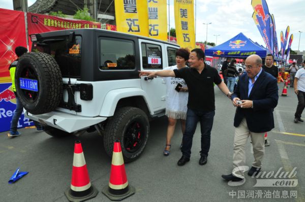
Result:
{"label": "rightmost yellow banner with dark Chinese characters, above the woman's head", "polygon": [[174,0],[177,44],[190,50],[195,48],[194,1]]}

